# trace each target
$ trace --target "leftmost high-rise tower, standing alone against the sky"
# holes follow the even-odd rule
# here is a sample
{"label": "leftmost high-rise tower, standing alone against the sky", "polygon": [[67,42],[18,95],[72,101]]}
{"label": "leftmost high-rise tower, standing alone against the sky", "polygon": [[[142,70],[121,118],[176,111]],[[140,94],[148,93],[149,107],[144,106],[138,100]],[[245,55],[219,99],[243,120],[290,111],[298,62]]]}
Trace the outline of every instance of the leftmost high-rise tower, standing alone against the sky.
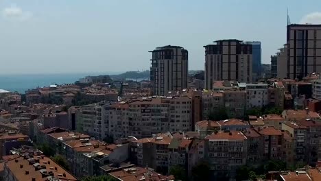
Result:
{"label": "leftmost high-rise tower, standing alone against the sky", "polygon": [[187,88],[188,51],[182,47],[167,45],[152,52],[150,81],[154,95],[165,95],[171,90]]}

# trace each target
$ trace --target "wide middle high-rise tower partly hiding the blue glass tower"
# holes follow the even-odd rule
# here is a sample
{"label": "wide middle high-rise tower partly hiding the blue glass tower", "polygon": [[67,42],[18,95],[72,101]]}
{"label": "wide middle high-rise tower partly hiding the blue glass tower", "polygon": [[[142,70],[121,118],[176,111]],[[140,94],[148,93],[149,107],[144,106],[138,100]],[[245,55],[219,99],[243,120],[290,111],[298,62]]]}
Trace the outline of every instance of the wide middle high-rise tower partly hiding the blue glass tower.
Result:
{"label": "wide middle high-rise tower partly hiding the blue glass tower", "polygon": [[217,40],[205,48],[205,89],[215,80],[252,82],[252,45],[241,40]]}

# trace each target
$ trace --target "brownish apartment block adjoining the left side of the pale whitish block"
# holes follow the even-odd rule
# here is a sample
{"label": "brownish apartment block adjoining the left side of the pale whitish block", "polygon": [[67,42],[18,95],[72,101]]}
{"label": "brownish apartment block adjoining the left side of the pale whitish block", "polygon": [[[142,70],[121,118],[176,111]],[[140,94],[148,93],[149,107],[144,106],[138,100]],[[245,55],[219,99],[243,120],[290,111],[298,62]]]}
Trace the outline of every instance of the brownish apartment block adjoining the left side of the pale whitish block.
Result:
{"label": "brownish apartment block adjoining the left side of the pale whitish block", "polygon": [[224,106],[228,117],[243,118],[246,112],[246,92],[242,90],[224,91]]}

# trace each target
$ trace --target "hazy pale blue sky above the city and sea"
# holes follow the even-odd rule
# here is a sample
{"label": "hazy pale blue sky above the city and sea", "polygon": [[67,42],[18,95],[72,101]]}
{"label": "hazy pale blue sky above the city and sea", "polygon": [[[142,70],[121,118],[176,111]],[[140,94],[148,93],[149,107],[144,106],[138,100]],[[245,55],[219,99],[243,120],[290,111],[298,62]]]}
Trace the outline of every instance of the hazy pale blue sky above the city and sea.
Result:
{"label": "hazy pale blue sky above the city and sea", "polygon": [[142,71],[155,47],[189,51],[204,69],[204,45],[261,41],[270,63],[292,23],[321,24],[309,0],[0,0],[0,74]]}

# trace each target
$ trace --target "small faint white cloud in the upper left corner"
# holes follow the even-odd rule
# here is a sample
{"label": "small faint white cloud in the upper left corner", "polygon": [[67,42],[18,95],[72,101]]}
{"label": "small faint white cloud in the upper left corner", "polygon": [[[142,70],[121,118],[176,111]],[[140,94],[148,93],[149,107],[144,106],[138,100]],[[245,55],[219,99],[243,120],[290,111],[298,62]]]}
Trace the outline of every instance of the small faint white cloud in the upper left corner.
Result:
{"label": "small faint white cloud in the upper left corner", "polygon": [[15,20],[24,21],[24,20],[30,19],[32,17],[32,13],[25,12],[21,8],[16,7],[16,5],[12,5],[2,10],[2,16],[6,19],[15,19]]}

